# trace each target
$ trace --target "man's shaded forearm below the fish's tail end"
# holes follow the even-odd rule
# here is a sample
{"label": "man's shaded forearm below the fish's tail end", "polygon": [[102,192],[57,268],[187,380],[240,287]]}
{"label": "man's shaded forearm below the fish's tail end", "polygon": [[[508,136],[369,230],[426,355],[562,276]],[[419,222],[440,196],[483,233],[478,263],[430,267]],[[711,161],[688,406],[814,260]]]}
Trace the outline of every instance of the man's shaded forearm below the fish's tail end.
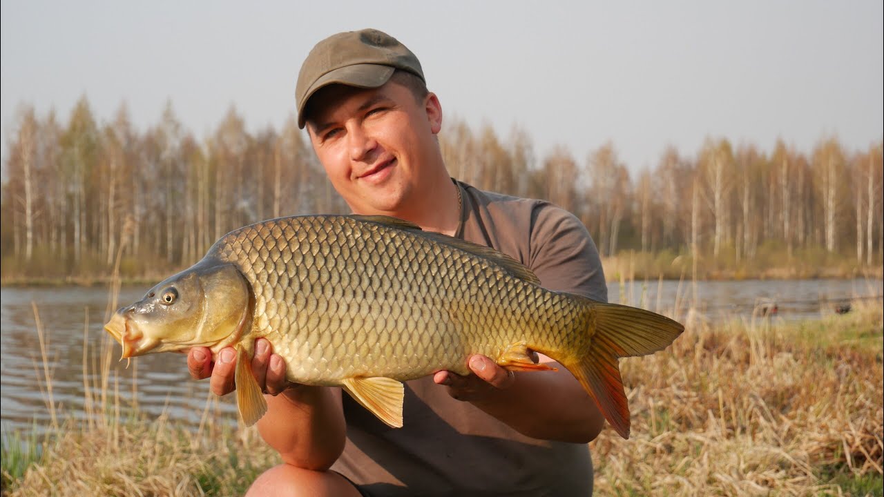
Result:
{"label": "man's shaded forearm below the fish's tail end", "polygon": [[550,365],[559,371],[516,372],[512,386],[472,402],[532,438],[575,443],[595,439],[605,418],[568,370]]}

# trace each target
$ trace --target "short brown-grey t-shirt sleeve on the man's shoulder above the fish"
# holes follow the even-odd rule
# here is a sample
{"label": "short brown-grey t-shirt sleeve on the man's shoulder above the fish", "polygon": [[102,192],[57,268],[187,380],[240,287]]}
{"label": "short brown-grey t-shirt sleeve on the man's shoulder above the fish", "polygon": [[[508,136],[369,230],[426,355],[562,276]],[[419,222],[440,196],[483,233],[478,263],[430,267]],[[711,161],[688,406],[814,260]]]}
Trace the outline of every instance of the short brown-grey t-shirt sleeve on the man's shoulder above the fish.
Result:
{"label": "short brown-grey t-shirt sleeve on the man's shoulder above the fish", "polygon": [[529,267],[543,287],[607,302],[607,285],[598,248],[573,214],[549,203],[531,216]]}

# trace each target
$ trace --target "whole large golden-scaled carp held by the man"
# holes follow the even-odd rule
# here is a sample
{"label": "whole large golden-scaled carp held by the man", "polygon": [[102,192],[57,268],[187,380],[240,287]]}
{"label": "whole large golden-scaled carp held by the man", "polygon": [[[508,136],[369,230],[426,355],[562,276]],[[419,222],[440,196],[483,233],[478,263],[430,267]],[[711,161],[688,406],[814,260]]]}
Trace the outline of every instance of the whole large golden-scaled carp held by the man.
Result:
{"label": "whole large golden-scaled carp held by the man", "polygon": [[394,427],[402,381],[469,374],[467,358],[514,371],[570,371],[613,428],[629,437],[617,359],[666,348],[683,326],[648,310],[540,287],[492,248],[383,216],[297,216],[245,226],[197,264],[118,310],[104,326],[123,357],[237,349],[240,416],[267,410],[251,371],[255,339],[271,341],[289,380],[340,386]]}

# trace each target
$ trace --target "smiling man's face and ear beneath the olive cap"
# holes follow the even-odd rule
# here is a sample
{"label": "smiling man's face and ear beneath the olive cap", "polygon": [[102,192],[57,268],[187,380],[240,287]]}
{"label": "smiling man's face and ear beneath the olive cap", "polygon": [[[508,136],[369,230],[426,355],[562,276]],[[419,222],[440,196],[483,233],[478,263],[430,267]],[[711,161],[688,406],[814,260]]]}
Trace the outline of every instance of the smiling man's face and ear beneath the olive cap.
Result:
{"label": "smiling man's face and ear beneath the olive cap", "polygon": [[[310,98],[310,141],[332,186],[356,214],[408,212],[438,178],[435,95],[417,102],[395,81],[380,88],[331,85]],[[437,172],[438,173],[438,172]]]}

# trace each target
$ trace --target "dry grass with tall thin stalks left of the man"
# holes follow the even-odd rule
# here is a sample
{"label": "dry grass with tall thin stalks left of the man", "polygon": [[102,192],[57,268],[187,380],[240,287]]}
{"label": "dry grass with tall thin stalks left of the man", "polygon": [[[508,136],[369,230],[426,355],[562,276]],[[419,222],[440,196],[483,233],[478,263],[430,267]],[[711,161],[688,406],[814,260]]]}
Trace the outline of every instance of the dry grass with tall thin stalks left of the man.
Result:
{"label": "dry grass with tall thin stalks left of the man", "polygon": [[[113,345],[105,340],[90,346],[88,321],[83,332],[83,416],[75,419],[57,409],[46,356],[48,337],[36,306],[34,320],[43,364],[39,386],[50,423],[24,437],[4,432],[4,496],[240,495],[258,474],[279,463],[255,428],[231,425],[213,394],[198,426],[171,424],[165,411],[148,419],[135,395],[135,403],[126,403],[110,369]],[[85,379],[90,377],[94,382]],[[137,368],[133,390],[135,385]]]}

